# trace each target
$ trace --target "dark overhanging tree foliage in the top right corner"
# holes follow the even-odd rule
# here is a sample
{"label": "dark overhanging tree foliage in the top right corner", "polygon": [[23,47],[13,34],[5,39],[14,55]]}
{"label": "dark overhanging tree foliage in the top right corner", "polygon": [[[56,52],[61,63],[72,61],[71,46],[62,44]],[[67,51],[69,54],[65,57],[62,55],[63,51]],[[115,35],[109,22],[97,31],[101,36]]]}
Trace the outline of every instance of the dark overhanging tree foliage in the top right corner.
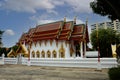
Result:
{"label": "dark overhanging tree foliage in the top right corner", "polygon": [[120,20],[120,0],[94,0],[90,7],[96,14],[108,16],[111,20]]}

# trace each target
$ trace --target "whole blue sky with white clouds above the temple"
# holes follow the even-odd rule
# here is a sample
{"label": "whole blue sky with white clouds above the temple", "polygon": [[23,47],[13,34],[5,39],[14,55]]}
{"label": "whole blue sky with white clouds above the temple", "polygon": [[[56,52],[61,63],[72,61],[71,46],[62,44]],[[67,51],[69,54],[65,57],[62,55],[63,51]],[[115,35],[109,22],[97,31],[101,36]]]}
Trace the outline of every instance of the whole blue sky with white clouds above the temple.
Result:
{"label": "whole blue sky with white clouds above the temple", "polygon": [[[96,22],[108,21],[92,12],[89,3],[93,0],[0,0],[0,30],[4,47],[15,45],[23,32],[38,24],[63,20],[85,23],[88,27]],[[89,30],[90,31],[90,30]],[[90,32],[89,32],[90,33]]]}

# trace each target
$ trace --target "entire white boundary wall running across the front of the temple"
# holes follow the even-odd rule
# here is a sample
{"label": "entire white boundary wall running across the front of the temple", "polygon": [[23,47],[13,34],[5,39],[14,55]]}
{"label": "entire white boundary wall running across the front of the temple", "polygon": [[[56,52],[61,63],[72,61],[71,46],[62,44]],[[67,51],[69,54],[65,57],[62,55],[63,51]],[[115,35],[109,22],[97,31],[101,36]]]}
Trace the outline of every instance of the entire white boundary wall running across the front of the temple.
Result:
{"label": "entire white boundary wall running across the front of the temple", "polygon": [[[0,64],[97,68],[98,58],[0,58]],[[117,67],[116,58],[100,58],[101,68]]]}

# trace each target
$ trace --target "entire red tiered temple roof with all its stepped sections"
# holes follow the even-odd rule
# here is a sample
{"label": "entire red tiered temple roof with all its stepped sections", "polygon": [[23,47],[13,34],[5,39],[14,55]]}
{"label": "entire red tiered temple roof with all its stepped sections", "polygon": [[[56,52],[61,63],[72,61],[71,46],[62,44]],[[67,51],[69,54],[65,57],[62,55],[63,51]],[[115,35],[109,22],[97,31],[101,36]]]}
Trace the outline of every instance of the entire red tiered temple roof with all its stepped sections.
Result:
{"label": "entire red tiered temple roof with all its stepped sections", "polygon": [[85,40],[85,24],[76,25],[74,21],[57,21],[53,23],[38,25],[31,28],[27,33],[23,33],[20,42],[40,41],[40,40]]}

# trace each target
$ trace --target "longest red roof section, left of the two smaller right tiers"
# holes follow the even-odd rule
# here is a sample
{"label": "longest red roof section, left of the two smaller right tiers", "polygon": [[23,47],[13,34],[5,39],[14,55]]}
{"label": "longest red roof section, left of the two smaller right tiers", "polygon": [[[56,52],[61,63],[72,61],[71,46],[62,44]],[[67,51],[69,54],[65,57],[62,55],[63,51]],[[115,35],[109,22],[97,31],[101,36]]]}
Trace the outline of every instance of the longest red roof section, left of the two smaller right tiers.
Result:
{"label": "longest red roof section, left of the two smaller right tiers", "polygon": [[63,21],[38,25],[32,35],[33,41],[57,39],[63,26]]}

